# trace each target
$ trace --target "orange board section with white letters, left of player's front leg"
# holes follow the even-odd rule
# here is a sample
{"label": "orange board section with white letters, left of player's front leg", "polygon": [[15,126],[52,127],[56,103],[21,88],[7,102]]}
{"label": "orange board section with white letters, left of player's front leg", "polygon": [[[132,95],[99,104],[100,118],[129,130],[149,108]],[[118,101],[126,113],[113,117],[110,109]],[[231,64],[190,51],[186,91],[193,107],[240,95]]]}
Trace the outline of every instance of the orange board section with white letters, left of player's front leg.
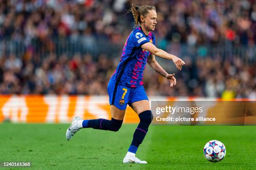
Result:
{"label": "orange board section with white letters, left of player's front leg", "polygon": [[[111,119],[108,96],[1,95],[0,122],[67,123],[72,117]],[[127,107],[124,122],[138,122]]]}

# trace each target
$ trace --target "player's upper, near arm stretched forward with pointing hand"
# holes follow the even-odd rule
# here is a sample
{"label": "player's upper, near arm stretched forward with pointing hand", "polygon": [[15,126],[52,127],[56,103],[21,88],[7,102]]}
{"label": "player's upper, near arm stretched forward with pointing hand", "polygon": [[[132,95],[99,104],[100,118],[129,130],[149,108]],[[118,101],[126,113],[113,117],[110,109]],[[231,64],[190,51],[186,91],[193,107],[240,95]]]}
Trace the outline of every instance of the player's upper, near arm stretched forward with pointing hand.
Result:
{"label": "player's upper, near arm stretched forward with pointing hand", "polygon": [[179,70],[181,70],[182,65],[185,64],[185,62],[179,57],[176,57],[175,55],[169,54],[168,52],[165,52],[164,50],[157,48],[151,42],[146,42],[145,44],[141,45],[141,47],[145,50],[148,50],[149,52],[151,52],[152,54],[158,57],[161,57],[167,60],[172,60]]}

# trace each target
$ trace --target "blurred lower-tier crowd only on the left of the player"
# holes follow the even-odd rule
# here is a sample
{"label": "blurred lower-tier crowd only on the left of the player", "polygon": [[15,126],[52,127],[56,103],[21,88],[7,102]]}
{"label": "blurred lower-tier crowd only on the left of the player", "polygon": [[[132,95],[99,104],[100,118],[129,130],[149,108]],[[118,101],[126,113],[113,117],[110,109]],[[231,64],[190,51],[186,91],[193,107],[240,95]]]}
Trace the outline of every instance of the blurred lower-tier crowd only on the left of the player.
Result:
{"label": "blurred lower-tier crowd only on the left of the player", "polygon": [[71,60],[49,55],[20,60],[14,55],[0,59],[1,94],[106,94],[115,65],[105,55],[98,62],[91,55],[75,55]]}

